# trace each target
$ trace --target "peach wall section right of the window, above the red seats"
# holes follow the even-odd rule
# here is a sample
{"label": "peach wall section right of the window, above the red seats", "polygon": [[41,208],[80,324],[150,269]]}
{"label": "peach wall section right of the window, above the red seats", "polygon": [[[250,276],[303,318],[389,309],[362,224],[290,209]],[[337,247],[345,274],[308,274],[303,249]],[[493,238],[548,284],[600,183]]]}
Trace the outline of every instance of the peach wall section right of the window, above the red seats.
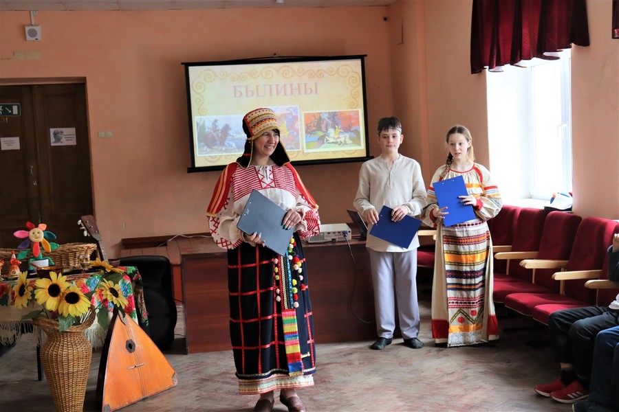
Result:
{"label": "peach wall section right of the window, above the red seats", "polygon": [[574,211],[619,219],[619,40],[612,2],[587,1],[589,47],[572,51]]}

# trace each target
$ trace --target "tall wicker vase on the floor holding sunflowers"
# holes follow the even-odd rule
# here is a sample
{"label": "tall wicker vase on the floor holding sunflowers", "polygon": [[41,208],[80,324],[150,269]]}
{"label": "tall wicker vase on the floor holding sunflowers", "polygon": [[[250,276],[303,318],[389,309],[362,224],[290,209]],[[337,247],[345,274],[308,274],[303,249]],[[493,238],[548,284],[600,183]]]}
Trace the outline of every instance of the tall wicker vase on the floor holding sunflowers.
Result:
{"label": "tall wicker vase on the floor holding sunflowers", "polygon": [[33,323],[47,334],[41,346],[41,364],[52,392],[56,412],[82,412],[92,360],[92,345],[84,331],[95,319],[91,308],[88,319],[65,332],[58,332],[58,321],[35,318]]}

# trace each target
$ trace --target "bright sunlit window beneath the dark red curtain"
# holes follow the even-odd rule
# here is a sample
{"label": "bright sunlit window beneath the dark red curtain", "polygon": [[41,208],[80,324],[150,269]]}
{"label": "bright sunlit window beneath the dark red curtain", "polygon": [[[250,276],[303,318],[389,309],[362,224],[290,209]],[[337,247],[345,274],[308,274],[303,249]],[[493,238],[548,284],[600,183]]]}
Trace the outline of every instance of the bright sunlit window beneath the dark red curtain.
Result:
{"label": "bright sunlit window beneath the dark red curtain", "polygon": [[572,191],[570,50],[488,71],[490,170],[503,198]]}

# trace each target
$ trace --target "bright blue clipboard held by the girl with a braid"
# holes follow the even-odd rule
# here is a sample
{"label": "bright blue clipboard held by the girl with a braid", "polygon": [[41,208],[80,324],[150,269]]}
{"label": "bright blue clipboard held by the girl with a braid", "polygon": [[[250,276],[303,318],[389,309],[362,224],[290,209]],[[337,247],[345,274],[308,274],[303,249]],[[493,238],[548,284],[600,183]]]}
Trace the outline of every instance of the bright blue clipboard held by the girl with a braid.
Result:
{"label": "bright blue clipboard held by the girl with a braid", "polygon": [[452,179],[445,179],[432,183],[434,193],[436,194],[439,207],[447,207],[447,212],[443,216],[445,226],[453,226],[458,223],[467,222],[475,219],[475,211],[473,206],[464,205],[461,203],[461,198],[458,196],[466,196],[466,184],[462,176],[455,176]]}

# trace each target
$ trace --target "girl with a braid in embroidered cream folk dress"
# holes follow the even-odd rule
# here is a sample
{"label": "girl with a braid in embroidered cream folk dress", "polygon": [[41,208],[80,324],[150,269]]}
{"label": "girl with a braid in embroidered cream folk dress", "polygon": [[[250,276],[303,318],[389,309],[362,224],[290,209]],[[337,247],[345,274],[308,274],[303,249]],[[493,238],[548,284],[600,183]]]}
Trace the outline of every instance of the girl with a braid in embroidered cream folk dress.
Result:
{"label": "girl with a braid in embroidered cream folk dress", "polygon": [[492,301],[492,240],[486,220],[501,210],[499,189],[488,169],[475,163],[473,138],[464,126],[446,136],[449,155],[432,182],[462,176],[467,196],[461,203],[473,206],[475,219],[450,227],[443,225],[446,207],[437,204],[433,185],[422,213],[427,225],[437,228],[432,288],[432,336],[437,345],[477,345],[499,339]]}

